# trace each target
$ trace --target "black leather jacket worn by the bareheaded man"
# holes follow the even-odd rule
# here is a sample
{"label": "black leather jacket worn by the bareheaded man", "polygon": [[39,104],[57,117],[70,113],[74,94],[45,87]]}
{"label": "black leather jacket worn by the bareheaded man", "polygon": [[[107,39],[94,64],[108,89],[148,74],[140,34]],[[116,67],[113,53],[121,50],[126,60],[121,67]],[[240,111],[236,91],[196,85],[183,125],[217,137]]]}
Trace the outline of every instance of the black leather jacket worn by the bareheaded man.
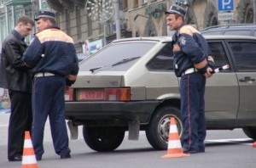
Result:
{"label": "black leather jacket worn by the bareheaded man", "polygon": [[30,70],[22,60],[26,42],[12,31],[2,44],[0,57],[0,87],[20,92],[32,92]]}

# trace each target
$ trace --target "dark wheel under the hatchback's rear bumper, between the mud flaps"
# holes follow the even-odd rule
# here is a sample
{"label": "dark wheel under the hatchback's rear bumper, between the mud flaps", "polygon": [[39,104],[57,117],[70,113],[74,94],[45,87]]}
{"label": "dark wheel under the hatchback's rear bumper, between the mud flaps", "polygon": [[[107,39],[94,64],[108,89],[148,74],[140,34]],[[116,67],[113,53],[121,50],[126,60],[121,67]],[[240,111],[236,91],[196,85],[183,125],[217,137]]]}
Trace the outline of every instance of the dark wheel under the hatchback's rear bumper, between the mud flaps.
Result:
{"label": "dark wheel under the hatchback's rear bumper, between the mud flaps", "polygon": [[98,152],[113,151],[123,142],[125,131],[117,127],[83,127],[85,143]]}

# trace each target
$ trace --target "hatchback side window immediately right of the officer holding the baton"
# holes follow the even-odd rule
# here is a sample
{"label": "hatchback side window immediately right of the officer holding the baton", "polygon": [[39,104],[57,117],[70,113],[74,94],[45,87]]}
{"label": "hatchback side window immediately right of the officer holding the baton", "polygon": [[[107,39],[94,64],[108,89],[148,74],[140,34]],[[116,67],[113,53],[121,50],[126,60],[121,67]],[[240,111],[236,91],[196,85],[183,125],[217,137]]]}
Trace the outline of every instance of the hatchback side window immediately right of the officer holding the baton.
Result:
{"label": "hatchback side window immediately right of the officer holding the baton", "polygon": [[215,67],[221,67],[225,64],[229,64],[222,42],[208,42],[208,45],[210,53],[214,58]]}

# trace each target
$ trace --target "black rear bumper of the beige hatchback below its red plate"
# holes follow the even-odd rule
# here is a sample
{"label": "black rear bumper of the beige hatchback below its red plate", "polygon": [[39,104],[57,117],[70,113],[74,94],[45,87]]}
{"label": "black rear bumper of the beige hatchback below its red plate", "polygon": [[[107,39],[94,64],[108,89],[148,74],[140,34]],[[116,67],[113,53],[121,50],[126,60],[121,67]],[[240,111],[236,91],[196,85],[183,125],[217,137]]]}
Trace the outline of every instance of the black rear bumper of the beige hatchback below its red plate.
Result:
{"label": "black rear bumper of the beige hatchback below its red plate", "polygon": [[160,100],[136,102],[66,102],[67,120],[136,120],[147,123]]}

